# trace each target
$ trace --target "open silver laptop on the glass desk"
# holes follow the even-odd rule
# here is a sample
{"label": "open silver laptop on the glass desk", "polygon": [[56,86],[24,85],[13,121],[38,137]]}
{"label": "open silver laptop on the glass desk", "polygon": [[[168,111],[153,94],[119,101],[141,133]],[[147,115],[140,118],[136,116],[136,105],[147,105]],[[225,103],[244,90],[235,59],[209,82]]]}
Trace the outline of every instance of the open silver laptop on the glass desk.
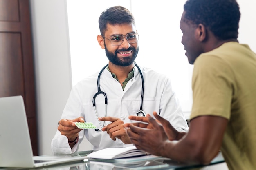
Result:
{"label": "open silver laptop on the glass desk", "polygon": [[0,167],[37,168],[85,159],[78,153],[33,156],[22,96],[0,98]]}

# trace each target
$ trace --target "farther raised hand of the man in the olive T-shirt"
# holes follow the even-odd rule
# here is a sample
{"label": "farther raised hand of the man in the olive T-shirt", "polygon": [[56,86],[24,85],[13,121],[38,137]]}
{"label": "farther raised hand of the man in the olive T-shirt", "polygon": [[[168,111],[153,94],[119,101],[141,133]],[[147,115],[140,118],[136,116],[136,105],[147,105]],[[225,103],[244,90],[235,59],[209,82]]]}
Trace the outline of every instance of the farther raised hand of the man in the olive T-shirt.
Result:
{"label": "farther raised hand of the man in the olive T-shirt", "polygon": [[130,127],[130,125],[132,124],[134,126],[141,127],[141,128],[154,129],[155,124],[152,123],[152,121],[154,120],[159,125],[162,126],[169,140],[171,141],[178,140],[184,135],[183,133],[180,133],[175,128],[173,128],[170,122],[164,119],[163,117],[161,117],[160,115],[158,115],[157,112],[153,112],[153,115],[155,116],[156,119],[153,119],[153,117],[151,117],[150,115],[146,117],[129,116],[130,120],[141,121],[141,122],[127,123],[125,124],[125,126]]}

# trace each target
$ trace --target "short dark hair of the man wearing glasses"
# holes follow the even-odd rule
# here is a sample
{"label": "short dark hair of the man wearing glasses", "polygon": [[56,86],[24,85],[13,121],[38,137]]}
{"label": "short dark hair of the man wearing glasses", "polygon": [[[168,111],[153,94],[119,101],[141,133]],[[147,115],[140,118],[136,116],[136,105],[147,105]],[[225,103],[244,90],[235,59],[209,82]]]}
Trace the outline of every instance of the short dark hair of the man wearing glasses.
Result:
{"label": "short dark hair of the man wearing glasses", "polygon": [[125,7],[115,6],[103,11],[99,17],[99,30],[101,35],[104,35],[107,29],[107,24],[134,24],[135,19],[132,13]]}

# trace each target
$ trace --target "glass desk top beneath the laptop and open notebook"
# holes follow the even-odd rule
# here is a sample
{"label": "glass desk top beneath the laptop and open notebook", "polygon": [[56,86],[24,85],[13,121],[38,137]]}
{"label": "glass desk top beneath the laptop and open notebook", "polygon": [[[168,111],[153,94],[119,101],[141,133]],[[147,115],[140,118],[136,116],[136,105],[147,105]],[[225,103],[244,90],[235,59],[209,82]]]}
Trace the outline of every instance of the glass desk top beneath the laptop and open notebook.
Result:
{"label": "glass desk top beneath the laptop and open notebook", "polygon": [[[81,156],[86,156],[93,151],[78,152]],[[77,153],[76,153],[77,155]],[[49,156],[49,155],[45,155]],[[51,155],[53,156],[53,155]],[[62,156],[60,154],[55,156]],[[221,152],[211,161],[210,165],[223,163],[224,158]],[[100,161],[97,159],[85,159],[72,163],[46,166],[42,168],[0,168],[0,170],[197,170],[205,165],[184,164],[163,157],[152,157],[150,155],[126,159],[112,159]]]}

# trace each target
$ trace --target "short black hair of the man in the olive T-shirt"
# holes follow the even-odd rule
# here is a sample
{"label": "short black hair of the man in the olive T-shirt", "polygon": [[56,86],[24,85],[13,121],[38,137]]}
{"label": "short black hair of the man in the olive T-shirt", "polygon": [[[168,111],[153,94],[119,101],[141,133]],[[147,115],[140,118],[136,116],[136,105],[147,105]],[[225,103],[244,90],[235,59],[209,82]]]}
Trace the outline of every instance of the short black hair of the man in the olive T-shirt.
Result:
{"label": "short black hair of the man in the olive T-shirt", "polygon": [[236,0],[187,0],[184,18],[203,24],[219,40],[238,38],[240,20]]}

